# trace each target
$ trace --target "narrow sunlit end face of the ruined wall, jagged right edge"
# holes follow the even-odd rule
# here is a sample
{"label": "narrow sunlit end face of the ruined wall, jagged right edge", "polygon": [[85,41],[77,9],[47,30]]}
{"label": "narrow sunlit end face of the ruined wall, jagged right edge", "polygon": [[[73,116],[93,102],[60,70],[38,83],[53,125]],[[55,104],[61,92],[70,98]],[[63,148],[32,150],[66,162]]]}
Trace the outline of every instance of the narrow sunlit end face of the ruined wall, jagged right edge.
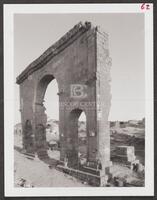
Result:
{"label": "narrow sunlit end face of the ruined wall, jagged right edge", "polygon": [[110,165],[110,132],[108,116],[111,106],[110,67],[108,35],[97,31],[97,157],[105,169]]}

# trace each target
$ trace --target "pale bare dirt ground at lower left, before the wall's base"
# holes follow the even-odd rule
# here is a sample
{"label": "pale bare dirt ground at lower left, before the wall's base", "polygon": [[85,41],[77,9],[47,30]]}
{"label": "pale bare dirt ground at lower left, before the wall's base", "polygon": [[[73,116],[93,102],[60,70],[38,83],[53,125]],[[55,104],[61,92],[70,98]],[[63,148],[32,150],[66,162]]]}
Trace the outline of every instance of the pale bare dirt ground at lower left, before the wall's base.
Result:
{"label": "pale bare dirt ground at lower left, before the wall's base", "polygon": [[48,165],[36,159],[29,160],[23,154],[14,151],[15,187],[21,178],[27,180],[34,187],[86,187],[81,181],[63,174],[56,169],[49,169]]}

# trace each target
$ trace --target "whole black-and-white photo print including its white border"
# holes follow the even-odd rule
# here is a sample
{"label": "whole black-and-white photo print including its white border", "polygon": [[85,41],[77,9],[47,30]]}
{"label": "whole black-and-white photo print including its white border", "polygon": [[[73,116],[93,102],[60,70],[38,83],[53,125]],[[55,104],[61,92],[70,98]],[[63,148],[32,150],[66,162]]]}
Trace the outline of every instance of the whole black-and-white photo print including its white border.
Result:
{"label": "whole black-and-white photo print including its white border", "polygon": [[8,196],[153,193],[152,10],[5,6]]}

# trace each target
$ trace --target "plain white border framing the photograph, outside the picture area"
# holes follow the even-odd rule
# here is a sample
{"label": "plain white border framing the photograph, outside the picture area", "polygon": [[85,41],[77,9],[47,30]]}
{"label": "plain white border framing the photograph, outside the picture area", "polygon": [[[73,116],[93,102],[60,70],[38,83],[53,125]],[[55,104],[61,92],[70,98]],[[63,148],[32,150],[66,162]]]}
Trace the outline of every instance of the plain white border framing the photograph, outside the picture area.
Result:
{"label": "plain white border framing the photograph, outside the picture area", "polygon": [[[4,181],[5,196],[153,196],[154,104],[153,104],[153,4],[4,4]],[[145,16],[145,187],[14,187],[14,14],[144,13]]]}

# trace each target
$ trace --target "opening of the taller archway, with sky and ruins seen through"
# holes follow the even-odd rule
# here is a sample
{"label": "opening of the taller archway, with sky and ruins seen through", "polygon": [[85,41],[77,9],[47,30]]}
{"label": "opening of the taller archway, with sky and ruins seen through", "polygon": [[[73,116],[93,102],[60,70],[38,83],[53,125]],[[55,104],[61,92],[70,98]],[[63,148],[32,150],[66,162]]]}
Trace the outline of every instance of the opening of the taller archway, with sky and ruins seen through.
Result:
{"label": "opening of the taller archway, with sky and ruins seen through", "polygon": [[47,115],[46,142],[48,144],[48,156],[52,159],[60,159],[59,95],[56,79],[53,79],[47,86],[44,107]]}

